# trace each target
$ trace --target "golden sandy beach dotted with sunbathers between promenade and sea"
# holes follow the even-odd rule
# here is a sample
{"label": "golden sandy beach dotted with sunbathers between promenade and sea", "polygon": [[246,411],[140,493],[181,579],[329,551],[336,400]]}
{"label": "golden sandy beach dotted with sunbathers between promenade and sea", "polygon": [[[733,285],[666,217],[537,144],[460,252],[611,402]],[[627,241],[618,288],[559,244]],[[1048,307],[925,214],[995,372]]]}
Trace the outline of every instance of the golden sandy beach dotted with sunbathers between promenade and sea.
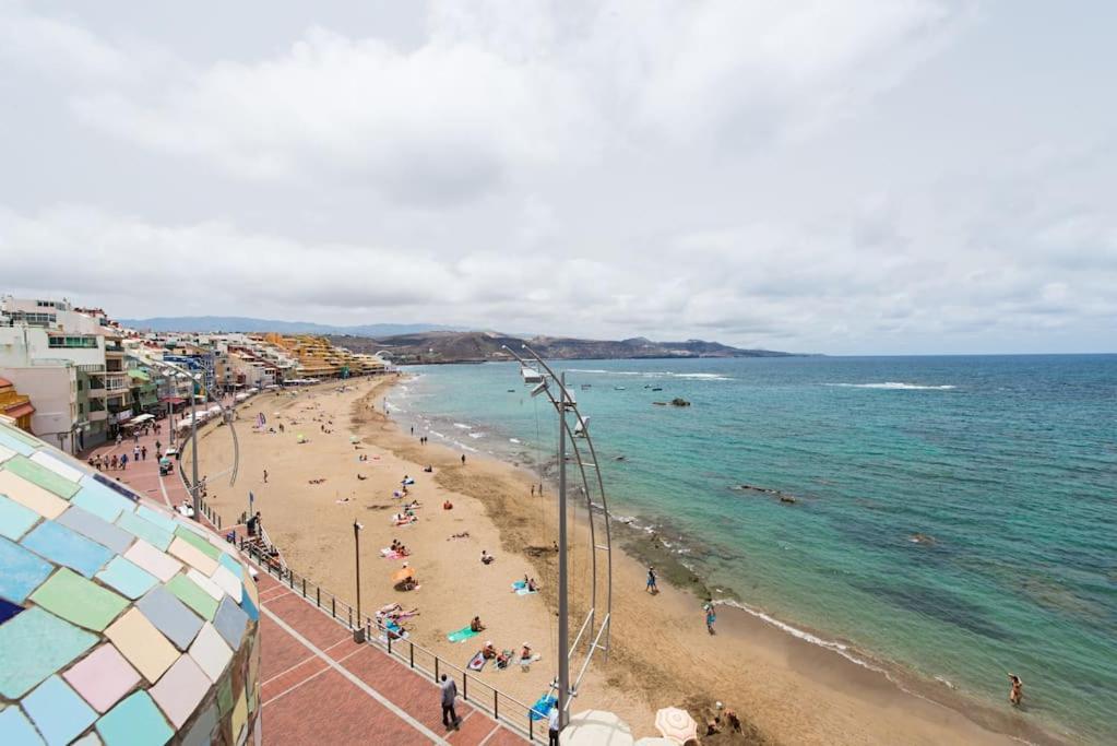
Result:
{"label": "golden sandy beach dotted with sunbathers between promenade and sea", "polygon": [[[289,566],[350,603],[355,600],[353,522],[361,522],[364,613],[393,601],[418,606],[420,614],[410,620],[411,639],[460,667],[486,640],[510,650],[529,642],[543,657],[529,671],[518,666],[497,671],[490,663],[480,675],[529,705],[546,692],[555,672],[554,492],[533,497],[533,477],[510,465],[472,453],[462,465],[460,453],[420,444],[418,437],[401,432],[380,413],[393,380],[346,382],[341,393],[333,382],[294,398],[254,398],[239,410],[236,487],[228,486],[228,477],[210,477],[208,501],[231,524],[247,509],[252,490],[264,526]],[[283,422],[286,432],[251,432],[259,412],[269,427]],[[323,425],[332,432],[322,432]],[[297,444],[299,433],[308,442]],[[360,449],[350,442],[352,436],[361,440]],[[230,444],[223,428],[201,431],[202,474],[229,468]],[[360,453],[369,461],[359,461]],[[428,463],[433,474],[422,471]],[[269,472],[266,485],[264,469]],[[366,478],[357,479],[359,474]],[[418,523],[397,528],[390,518],[403,500],[393,499],[392,491],[404,475],[416,480],[407,499],[418,499],[422,507]],[[308,484],[319,478],[325,482]],[[452,501],[452,510],[441,508],[445,499]],[[580,594],[573,602],[577,610],[585,608],[588,542],[585,532],[577,530],[584,520],[576,511],[573,517],[571,587]],[[448,541],[465,530],[469,538]],[[407,561],[420,583],[416,591],[393,587],[390,575],[402,561],[380,556],[392,538],[412,552]],[[495,554],[496,562],[483,565],[481,549]],[[525,573],[542,583],[540,594],[510,591]],[[909,694],[884,673],[745,611],[719,606],[717,634],[709,635],[701,602],[690,590],[661,582],[661,592],[651,595],[645,592],[645,576],[640,562],[614,551],[609,661],[594,660],[573,711],[610,709],[637,737],[658,735],[653,719],[660,707],[686,704],[697,715],[720,700],[755,728],[751,740],[756,743],[1008,744],[1013,737],[1059,743],[1008,708],[978,707],[945,687],[923,692],[937,701]],[[487,625],[485,632],[464,643],[447,641],[448,632],[475,615]],[[581,620],[572,614],[572,633]]]}

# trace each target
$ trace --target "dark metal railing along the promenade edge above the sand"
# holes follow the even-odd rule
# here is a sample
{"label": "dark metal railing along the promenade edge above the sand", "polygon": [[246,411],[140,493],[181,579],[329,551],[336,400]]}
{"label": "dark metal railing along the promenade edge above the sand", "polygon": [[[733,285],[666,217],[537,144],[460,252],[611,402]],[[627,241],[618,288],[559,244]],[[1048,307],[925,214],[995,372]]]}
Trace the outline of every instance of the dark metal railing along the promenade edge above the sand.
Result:
{"label": "dark metal railing along the promenade edge above the sand", "polygon": [[[240,537],[239,548],[264,572],[289,587],[295,594],[300,595],[307,603],[316,606],[318,611],[334,619],[338,624],[344,624],[351,631],[363,629],[364,639],[367,644],[379,648],[409,668],[430,677],[433,682],[438,682],[441,676],[446,673],[457,683],[458,694],[461,698],[475,708],[507,726],[533,744],[547,743],[547,712],[534,710],[531,706],[525,705],[515,697],[509,697],[499,689],[486,683],[476,675],[471,675],[470,671],[450,663],[441,656],[408,639],[398,637],[398,633],[390,632],[383,624],[371,616],[365,615],[364,619],[359,619],[356,611],[347,603],[341,601],[336,595],[324,590],[321,585],[275,561],[266,552],[262,552],[258,545],[246,542],[244,537]],[[514,658],[509,661],[508,666],[512,667],[515,664],[516,660]],[[535,719],[531,717],[533,712],[536,715]]]}

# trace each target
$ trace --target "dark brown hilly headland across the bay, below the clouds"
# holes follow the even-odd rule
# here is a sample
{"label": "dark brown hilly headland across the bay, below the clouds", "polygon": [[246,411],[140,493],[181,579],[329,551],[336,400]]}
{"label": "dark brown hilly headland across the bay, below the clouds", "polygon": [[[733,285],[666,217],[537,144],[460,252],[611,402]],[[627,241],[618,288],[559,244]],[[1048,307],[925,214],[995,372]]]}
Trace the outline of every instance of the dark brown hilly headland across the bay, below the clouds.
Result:
{"label": "dark brown hilly headland across the bay, below the clouds", "polygon": [[518,350],[526,342],[535,352],[553,360],[624,360],[634,357],[785,357],[793,353],[742,350],[718,342],[652,342],[632,339],[576,339],[573,337],[531,338],[497,332],[417,332],[395,336],[366,337],[331,335],[330,341],[353,352],[389,351],[397,363],[479,363],[510,360],[507,345]]}

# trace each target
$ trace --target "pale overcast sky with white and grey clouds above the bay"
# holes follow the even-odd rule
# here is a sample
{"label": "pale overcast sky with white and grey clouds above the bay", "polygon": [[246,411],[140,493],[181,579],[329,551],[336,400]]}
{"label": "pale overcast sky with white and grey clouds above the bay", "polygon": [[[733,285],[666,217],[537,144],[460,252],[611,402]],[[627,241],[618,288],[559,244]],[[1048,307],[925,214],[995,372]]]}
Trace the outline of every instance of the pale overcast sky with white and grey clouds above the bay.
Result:
{"label": "pale overcast sky with white and grey clouds above the bay", "polygon": [[1113,352],[1115,23],[1101,1],[0,0],[0,290]]}

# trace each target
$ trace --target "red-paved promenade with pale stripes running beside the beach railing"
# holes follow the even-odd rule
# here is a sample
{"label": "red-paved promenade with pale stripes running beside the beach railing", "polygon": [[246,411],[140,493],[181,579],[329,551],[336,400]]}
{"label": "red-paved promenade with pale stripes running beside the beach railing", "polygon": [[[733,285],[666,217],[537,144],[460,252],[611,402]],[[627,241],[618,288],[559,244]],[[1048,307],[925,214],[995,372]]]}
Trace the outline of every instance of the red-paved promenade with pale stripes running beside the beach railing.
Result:
{"label": "red-paved promenade with pale stripes running beside the beach railing", "polygon": [[[136,444],[132,438],[120,446],[115,442],[99,446],[83,453],[83,458],[127,453],[127,469],[104,474],[149,499],[173,507],[187,499],[188,490],[178,469],[160,476],[155,440],[165,448],[165,428],[161,436],[152,433],[139,439],[141,447],[147,447],[147,459],[139,462],[131,461]],[[209,485],[211,492],[227,488],[223,479],[213,479]],[[237,528],[242,532],[242,527]],[[265,746],[307,743],[513,746],[526,742],[460,697],[457,707],[460,727],[448,730],[441,723],[440,692],[433,677],[412,670],[379,648],[353,642],[353,633],[343,620],[324,613],[264,568],[259,568],[257,586]],[[459,680],[459,692],[462,689]],[[545,738],[545,725],[536,735]]]}

